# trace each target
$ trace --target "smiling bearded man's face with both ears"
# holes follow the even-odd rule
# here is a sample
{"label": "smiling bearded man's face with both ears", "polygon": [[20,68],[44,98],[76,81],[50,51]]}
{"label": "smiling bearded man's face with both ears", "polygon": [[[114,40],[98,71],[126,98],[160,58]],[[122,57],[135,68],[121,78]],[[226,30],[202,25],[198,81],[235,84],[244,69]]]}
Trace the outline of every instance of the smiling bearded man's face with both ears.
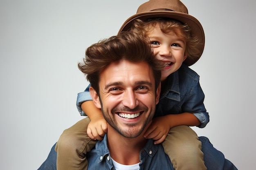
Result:
{"label": "smiling bearded man's face with both ears", "polygon": [[155,93],[155,79],[147,63],[121,60],[101,72],[100,98],[90,91],[108,124],[124,137],[134,138],[153,119],[159,89]]}

